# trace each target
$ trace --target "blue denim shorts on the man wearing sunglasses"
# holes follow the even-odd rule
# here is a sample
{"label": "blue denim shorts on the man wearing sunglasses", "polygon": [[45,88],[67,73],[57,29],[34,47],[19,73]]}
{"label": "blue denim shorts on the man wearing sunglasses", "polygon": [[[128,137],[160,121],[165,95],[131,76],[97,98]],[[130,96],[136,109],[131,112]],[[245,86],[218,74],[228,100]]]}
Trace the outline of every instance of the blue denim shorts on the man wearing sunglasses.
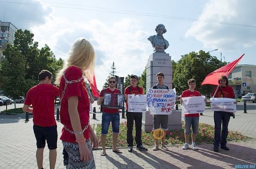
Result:
{"label": "blue denim shorts on the man wearing sunglasses", "polygon": [[112,124],[112,132],[119,133],[120,116],[119,113],[102,113],[102,135],[108,134],[108,127]]}

